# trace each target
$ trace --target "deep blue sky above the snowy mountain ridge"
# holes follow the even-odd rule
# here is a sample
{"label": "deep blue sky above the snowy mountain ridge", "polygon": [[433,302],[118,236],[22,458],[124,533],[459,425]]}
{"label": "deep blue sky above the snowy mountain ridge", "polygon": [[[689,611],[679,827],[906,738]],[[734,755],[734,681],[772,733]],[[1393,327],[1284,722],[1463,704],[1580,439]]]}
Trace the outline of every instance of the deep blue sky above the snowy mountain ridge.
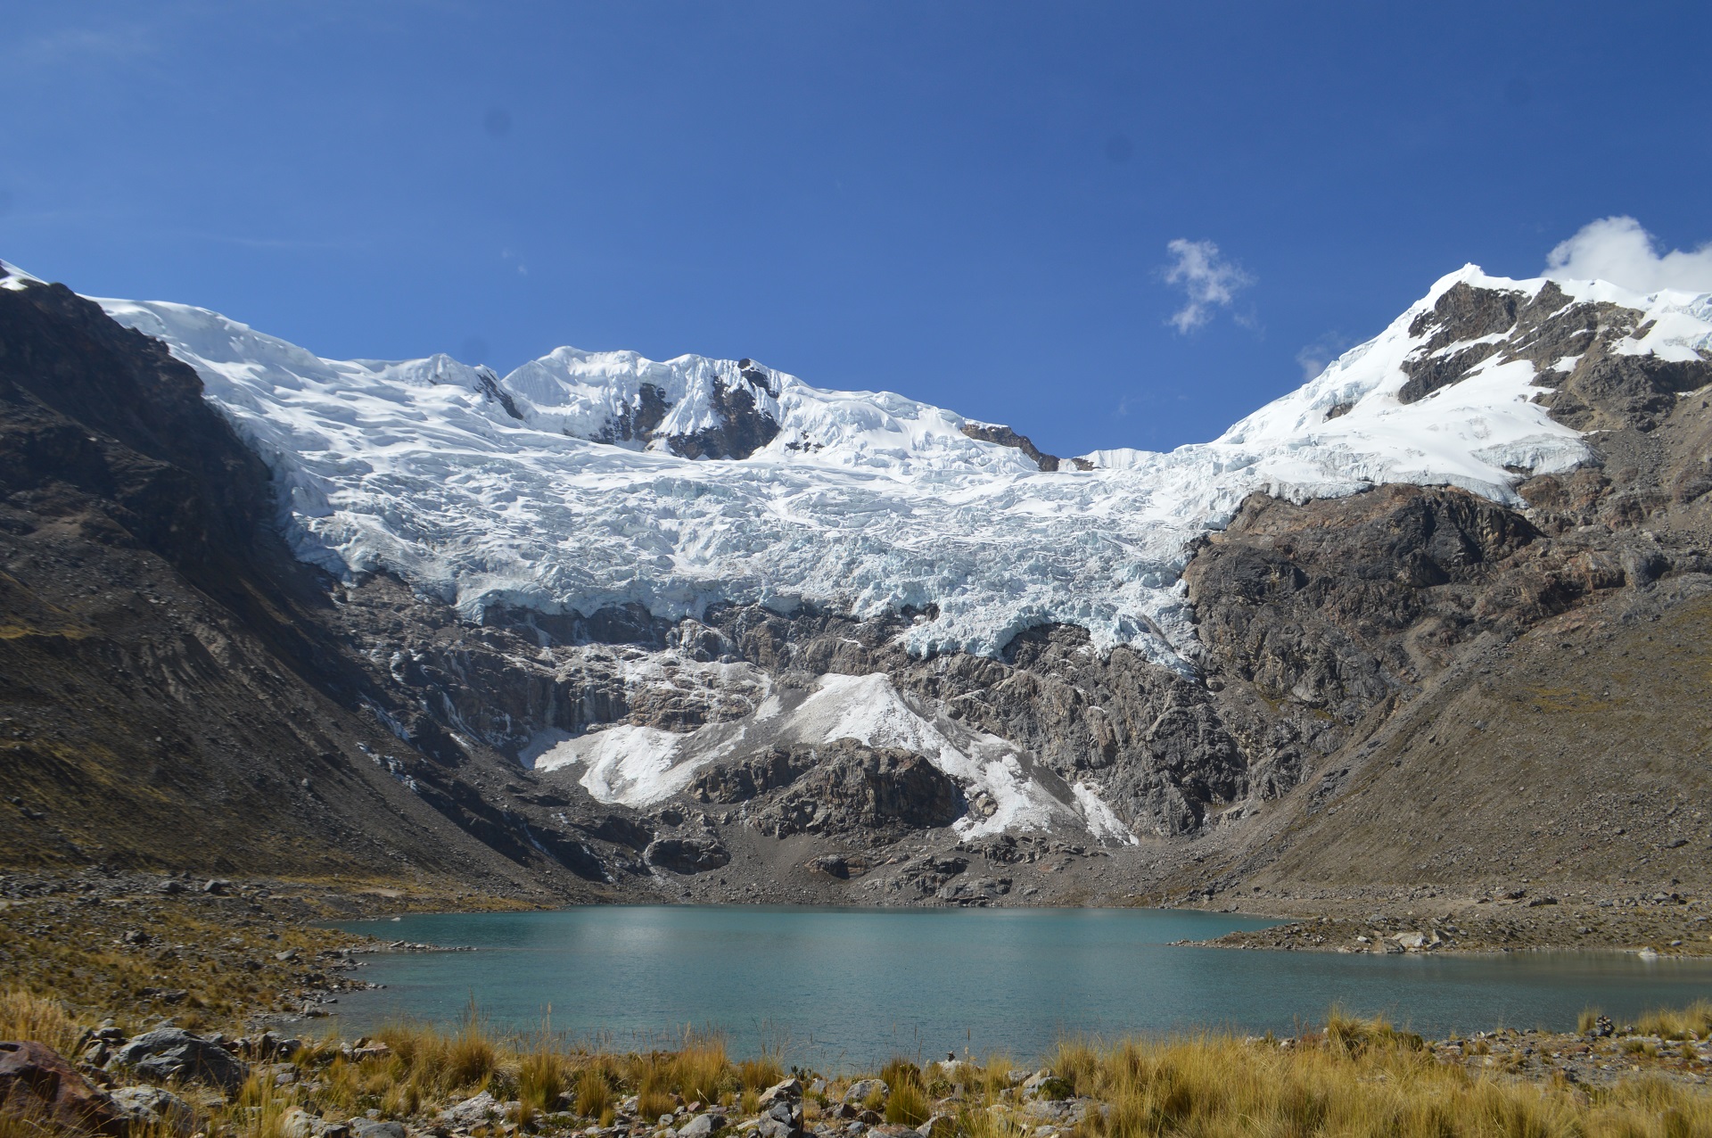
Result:
{"label": "deep blue sky above the snowy mountain ridge", "polygon": [[0,15],[38,276],[324,356],[753,356],[1058,453],[1210,438],[1599,217],[1712,240],[1702,3]]}

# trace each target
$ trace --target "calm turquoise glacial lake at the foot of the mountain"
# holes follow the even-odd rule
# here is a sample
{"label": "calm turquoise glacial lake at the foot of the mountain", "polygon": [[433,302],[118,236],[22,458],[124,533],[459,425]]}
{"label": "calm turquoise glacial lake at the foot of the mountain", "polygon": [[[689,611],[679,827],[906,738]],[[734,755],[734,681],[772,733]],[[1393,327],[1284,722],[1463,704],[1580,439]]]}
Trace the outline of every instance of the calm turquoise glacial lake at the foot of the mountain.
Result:
{"label": "calm turquoise glacial lake at the foot of the mountain", "polygon": [[594,905],[344,922],[474,953],[366,957],[383,991],[341,998],[341,1030],[409,1016],[454,1023],[476,1001],[500,1028],[615,1047],[717,1028],[736,1054],[779,1047],[822,1071],[892,1054],[1003,1051],[1061,1035],[1228,1027],[1289,1035],[1339,1003],[1443,1035],[1621,1020],[1712,996],[1712,962],[1626,953],[1368,957],[1185,948],[1272,924],[1144,909],[818,909]]}

